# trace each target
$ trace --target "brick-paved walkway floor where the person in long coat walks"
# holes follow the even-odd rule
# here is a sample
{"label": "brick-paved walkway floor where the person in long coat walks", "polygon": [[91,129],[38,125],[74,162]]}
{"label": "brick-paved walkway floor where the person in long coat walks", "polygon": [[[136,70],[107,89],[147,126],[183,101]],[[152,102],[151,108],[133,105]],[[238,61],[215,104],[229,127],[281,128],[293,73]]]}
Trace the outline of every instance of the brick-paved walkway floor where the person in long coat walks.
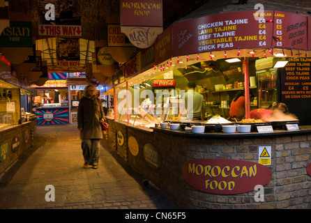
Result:
{"label": "brick-paved walkway floor where the person in long coat walks", "polygon": [[37,126],[34,146],[0,176],[0,208],[177,208],[109,148],[84,169],[80,144],[77,125]]}

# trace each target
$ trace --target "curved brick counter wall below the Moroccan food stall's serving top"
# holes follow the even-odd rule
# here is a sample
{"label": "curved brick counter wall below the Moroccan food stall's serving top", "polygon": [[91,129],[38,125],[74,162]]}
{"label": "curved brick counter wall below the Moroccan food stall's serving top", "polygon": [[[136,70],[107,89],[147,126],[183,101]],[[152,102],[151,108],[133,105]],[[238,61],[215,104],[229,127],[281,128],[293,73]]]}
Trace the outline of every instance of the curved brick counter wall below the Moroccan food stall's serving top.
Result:
{"label": "curved brick counter wall below the Moroccan food stall's serving top", "polygon": [[[179,134],[143,132],[128,128],[139,144],[139,153],[128,152],[126,160],[137,173],[160,187],[180,208],[311,208],[311,177],[306,167],[311,162],[311,134],[287,137],[213,139],[183,137]],[[153,144],[162,158],[160,169],[146,164],[143,148]],[[201,192],[185,182],[182,165],[186,160],[224,158],[258,162],[258,147],[271,146],[273,178],[264,186],[264,202],[256,202],[257,191],[244,194],[217,195]],[[128,150],[128,148],[126,148]]]}

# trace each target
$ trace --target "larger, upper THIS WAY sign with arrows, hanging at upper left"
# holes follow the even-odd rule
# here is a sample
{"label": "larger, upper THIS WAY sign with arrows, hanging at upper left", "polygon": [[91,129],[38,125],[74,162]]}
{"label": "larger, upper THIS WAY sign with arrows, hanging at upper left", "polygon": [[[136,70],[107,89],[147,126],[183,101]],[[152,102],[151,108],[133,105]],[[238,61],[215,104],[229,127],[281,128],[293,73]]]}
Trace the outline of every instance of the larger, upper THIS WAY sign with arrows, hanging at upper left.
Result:
{"label": "larger, upper THIS WAY sign with arrows, hanging at upper left", "polygon": [[40,36],[82,36],[81,26],[39,24]]}

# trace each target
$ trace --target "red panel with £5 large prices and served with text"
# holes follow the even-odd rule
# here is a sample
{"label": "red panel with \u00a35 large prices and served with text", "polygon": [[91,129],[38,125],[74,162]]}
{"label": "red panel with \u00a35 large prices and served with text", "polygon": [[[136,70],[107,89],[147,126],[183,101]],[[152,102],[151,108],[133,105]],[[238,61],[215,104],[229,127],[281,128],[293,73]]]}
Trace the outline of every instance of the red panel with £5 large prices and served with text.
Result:
{"label": "red panel with \u00a35 large prices and served with text", "polygon": [[274,12],[273,46],[307,49],[308,18],[293,13]]}

